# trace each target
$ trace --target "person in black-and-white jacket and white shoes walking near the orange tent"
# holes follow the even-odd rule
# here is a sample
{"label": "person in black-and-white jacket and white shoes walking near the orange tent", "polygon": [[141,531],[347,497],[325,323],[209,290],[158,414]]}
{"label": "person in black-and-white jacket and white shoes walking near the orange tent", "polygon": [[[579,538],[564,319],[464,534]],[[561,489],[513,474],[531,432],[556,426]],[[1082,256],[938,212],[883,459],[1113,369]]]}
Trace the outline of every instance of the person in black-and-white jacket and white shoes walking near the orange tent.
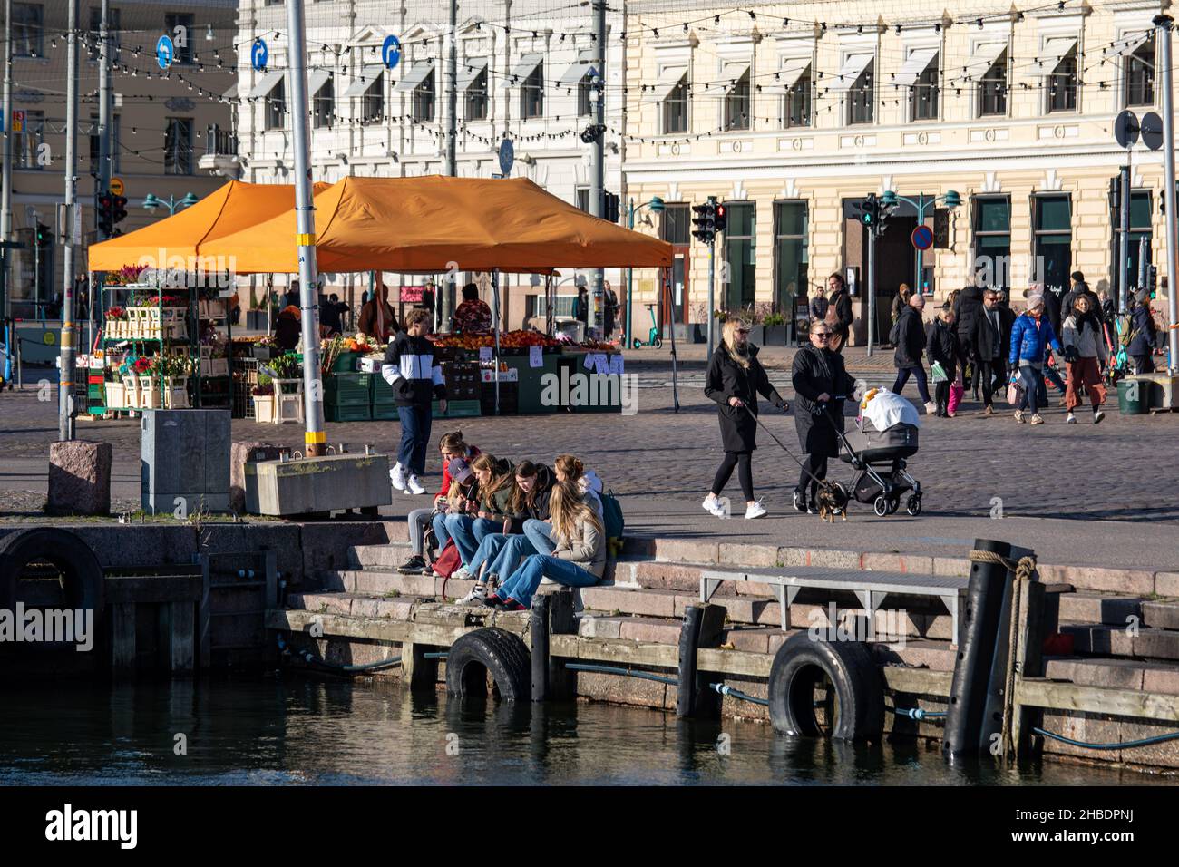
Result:
{"label": "person in black-and-white jacket and white shoes walking near the orange tent", "polygon": [[406,315],[406,330],[397,331],[384,352],[381,376],[393,387],[401,419],[397,464],[389,477],[399,491],[426,493],[419,477],[426,473],[426,449],[434,418],[432,399],[446,412],[446,381],[441,364],[434,363],[434,344],[426,339],[430,314],[415,308]]}

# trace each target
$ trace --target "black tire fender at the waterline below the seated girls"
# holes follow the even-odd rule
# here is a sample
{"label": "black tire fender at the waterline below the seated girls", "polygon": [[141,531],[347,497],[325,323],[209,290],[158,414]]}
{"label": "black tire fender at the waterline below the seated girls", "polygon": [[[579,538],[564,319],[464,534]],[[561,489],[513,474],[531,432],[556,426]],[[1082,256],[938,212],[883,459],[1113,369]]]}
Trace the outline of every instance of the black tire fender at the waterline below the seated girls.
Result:
{"label": "black tire fender at the waterline below the seated girls", "polygon": [[506,702],[532,699],[532,655],[518,635],[476,629],[461,636],[446,657],[446,689],[454,696],[485,695],[486,675]]}

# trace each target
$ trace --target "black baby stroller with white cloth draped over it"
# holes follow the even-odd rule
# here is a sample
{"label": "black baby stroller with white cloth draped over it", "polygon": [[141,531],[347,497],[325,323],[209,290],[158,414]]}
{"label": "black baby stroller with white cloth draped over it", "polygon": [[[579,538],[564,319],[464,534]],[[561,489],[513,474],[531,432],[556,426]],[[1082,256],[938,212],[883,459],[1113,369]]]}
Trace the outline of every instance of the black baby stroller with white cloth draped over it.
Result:
{"label": "black baby stroller with white cloth draped over it", "polygon": [[[907,458],[917,453],[917,410],[903,398],[883,389],[869,392],[856,427],[839,438],[839,460],[857,469],[851,497],[870,503],[877,517],[893,514],[901,498],[909,493],[904,511],[921,514],[921,482],[907,467]],[[887,466],[885,466],[887,465]]]}

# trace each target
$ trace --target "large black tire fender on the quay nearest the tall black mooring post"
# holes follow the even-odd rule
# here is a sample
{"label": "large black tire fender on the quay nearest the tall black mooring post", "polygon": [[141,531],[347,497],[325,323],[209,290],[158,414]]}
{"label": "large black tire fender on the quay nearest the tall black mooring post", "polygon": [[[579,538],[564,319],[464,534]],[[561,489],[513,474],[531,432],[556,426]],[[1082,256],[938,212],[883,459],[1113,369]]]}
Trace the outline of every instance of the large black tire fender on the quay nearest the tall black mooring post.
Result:
{"label": "large black tire fender on the quay nearest the tall black mooring post", "polygon": [[815,687],[834,685],[839,712],[831,737],[878,740],[884,731],[884,684],[862,642],[829,642],[808,632],[788,638],[770,668],[770,722],[784,735],[817,737]]}

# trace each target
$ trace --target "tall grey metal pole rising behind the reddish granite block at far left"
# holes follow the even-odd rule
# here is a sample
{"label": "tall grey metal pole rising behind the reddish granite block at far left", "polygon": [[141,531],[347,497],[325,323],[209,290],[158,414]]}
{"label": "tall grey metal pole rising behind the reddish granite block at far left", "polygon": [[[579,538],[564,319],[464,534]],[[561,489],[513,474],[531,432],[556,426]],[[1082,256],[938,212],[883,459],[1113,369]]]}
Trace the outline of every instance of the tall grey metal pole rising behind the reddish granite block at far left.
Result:
{"label": "tall grey metal pole rising behind the reddish granite block at far left", "polygon": [[58,439],[74,438],[73,375],[74,342],[74,282],[73,282],[73,211],[77,208],[78,178],[78,0],[70,2],[70,32],[66,34],[66,221],[58,231],[65,241],[61,252],[64,298],[61,306],[61,375],[58,387]]}

